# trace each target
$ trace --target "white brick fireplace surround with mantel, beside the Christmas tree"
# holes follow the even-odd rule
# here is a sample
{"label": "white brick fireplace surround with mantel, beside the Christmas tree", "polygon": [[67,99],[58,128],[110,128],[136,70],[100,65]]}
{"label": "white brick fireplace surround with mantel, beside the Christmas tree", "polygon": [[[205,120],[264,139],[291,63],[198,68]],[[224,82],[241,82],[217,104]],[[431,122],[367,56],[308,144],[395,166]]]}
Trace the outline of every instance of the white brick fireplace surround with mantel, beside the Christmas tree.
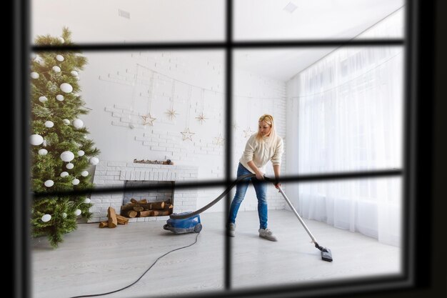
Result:
{"label": "white brick fireplace surround with mantel, beside the Christmas tree", "polygon": [[[177,166],[168,164],[138,164],[134,162],[107,162],[101,161],[96,165],[94,174],[95,187],[124,187],[126,181],[196,181],[198,167]],[[107,209],[113,207],[119,213],[123,205],[124,192],[111,194],[91,194],[92,213],[89,222],[107,220]],[[197,189],[174,190],[174,213],[194,211],[197,209]],[[137,217],[129,222],[149,222],[166,220],[163,217]]]}

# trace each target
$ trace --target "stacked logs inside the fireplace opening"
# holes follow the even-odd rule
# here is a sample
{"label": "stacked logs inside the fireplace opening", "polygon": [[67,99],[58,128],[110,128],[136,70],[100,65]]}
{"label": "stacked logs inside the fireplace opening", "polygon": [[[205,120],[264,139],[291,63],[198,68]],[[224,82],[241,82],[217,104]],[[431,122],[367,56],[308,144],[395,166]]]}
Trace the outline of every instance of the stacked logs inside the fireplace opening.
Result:
{"label": "stacked logs inside the fireplace opening", "polygon": [[124,217],[160,217],[172,214],[174,206],[171,199],[161,202],[147,202],[146,199],[137,201],[131,199],[130,203],[121,206],[121,215]]}

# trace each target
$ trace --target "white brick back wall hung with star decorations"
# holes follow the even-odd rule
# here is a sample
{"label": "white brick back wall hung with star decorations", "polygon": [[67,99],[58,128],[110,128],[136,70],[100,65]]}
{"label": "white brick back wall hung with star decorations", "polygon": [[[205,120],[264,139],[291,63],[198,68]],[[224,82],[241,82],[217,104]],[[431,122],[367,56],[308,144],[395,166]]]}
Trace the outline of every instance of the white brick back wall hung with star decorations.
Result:
{"label": "white brick back wall hung with star decorations", "polygon": [[[80,118],[91,132],[89,137],[101,150],[100,160],[132,162],[134,159],[171,159],[175,164],[198,166],[199,180],[225,179],[225,141],[218,142],[219,134],[225,138],[222,51],[135,51],[83,55],[87,57],[88,64],[80,72],[80,94],[91,111]],[[251,126],[251,130],[256,131],[258,116],[273,114],[278,134],[285,137],[286,85],[246,71],[236,71],[234,78],[236,98],[233,121],[238,127],[233,130],[234,167],[231,171],[235,177],[237,162],[246,141],[243,130]],[[178,113],[172,119],[166,114],[171,107]],[[149,111],[156,118],[153,126],[143,125],[142,116]],[[196,119],[202,111],[207,118],[203,123]],[[181,131],[186,128],[194,132],[192,140],[183,139]],[[267,174],[273,174],[271,166],[268,166],[268,171]],[[222,190],[202,189],[197,207],[211,202]],[[283,202],[273,186],[271,196],[273,199],[269,207],[283,209]],[[248,192],[241,210],[255,210],[256,205],[254,192]],[[223,210],[223,204],[209,209]]]}

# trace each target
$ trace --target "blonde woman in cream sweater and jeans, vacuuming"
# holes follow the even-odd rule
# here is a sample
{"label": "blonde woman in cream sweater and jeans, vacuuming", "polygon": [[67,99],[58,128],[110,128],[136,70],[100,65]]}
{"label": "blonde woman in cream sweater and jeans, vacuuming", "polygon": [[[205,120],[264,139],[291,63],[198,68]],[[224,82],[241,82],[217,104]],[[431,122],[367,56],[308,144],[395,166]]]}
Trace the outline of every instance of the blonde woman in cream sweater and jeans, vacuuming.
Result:
{"label": "blonde woman in cream sweater and jeans, vacuuming", "polygon": [[[236,215],[241,202],[247,192],[251,179],[258,198],[259,237],[277,241],[270,229],[267,228],[267,183],[262,182],[265,167],[270,160],[276,181],[279,179],[281,155],[283,154],[283,140],[276,134],[273,116],[263,114],[258,120],[258,132],[248,139],[241,159],[239,159],[237,177],[246,174],[256,174],[256,178],[246,178],[238,182],[236,194],[231,202],[230,216],[228,218],[228,236],[234,237],[236,230]],[[278,189],[281,184],[276,183]]]}

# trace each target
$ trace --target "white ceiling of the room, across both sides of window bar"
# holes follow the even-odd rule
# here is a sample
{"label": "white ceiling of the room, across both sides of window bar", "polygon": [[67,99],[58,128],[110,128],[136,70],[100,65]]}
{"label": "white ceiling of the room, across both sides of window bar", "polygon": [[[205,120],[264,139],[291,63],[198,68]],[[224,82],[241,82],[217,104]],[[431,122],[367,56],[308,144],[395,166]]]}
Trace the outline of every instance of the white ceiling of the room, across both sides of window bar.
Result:
{"label": "white ceiling of the room, across both sides of window bar", "polygon": [[[283,10],[292,2],[293,13]],[[350,39],[403,6],[403,0],[236,0],[236,40]],[[119,10],[130,18],[119,16]],[[31,39],[76,43],[223,41],[224,0],[32,0]],[[401,36],[394,36],[401,37]],[[236,68],[287,81],[333,48],[236,50]],[[204,59],[212,59],[205,57]]]}

